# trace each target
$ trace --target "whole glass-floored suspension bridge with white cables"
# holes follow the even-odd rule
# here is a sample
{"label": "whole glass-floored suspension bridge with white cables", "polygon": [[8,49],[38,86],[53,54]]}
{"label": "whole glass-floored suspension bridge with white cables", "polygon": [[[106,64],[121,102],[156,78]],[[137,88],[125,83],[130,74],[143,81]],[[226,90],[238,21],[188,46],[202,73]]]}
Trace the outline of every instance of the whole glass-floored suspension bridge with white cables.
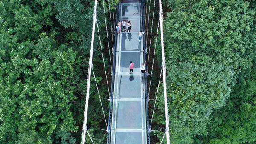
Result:
{"label": "whole glass-floored suspension bridge with white cables", "polygon": [[[164,85],[164,99],[165,99],[165,116],[166,116],[166,132],[163,135],[163,138],[166,136],[167,144],[170,143],[169,137],[169,118],[168,118],[168,107],[167,107],[167,94],[166,94],[166,68],[165,68],[165,58],[164,58],[164,45],[163,45],[163,18],[162,18],[162,4],[161,0],[159,0],[160,11],[159,11],[159,20],[157,26],[157,34],[160,26],[160,34],[161,34],[161,47],[162,47],[162,69],[159,78],[159,84],[161,75],[163,75],[163,85]],[[110,6],[110,2],[108,0],[108,5]],[[105,6],[103,1],[104,7],[104,14],[106,13]],[[149,7],[151,2],[149,1]],[[113,6],[113,1],[112,1]],[[155,0],[154,0],[155,6]],[[115,27],[118,21],[131,21],[132,28],[131,32],[126,32],[125,29],[121,29],[120,34],[115,31],[115,39],[108,35],[107,29],[107,21],[105,15],[105,23],[106,23],[106,32],[108,38],[108,49],[109,55],[111,58],[111,51],[109,46],[109,39],[113,44],[113,63],[111,63],[112,69],[112,80],[111,80],[111,90],[109,92],[109,101],[110,101],[110,109],[109,109],[109,118],[108,122],[105,118],[104,108],[102,107],[102,111],[105,118],[105,124],[107,127],[108,144],[150,144],[150,132],[151,132],[151,124],[154,115],[154,109],[152,113],[152,117],[149,118],[148,115],[148,102],[149,102],[149,92],[151,86],[151,78],[149,88],[147,76],[148,72],[142,73],[141,70],[141,63],[147,61],[149,53],[147,54],[147,37],[143,35],[142,40],[140,41],[138,38],[138,32],[142,30],[143,32],[146,31],[145,29],[145,22],[147,18],[147,10],[148,3],[145,4],[144,0],[121,0],[119,4],[116,5],[116,17],[114,17],[114,12],[111,13],[111,9],[109,8],[110,13],[110,21],[111,21],[111,33],[113,27]],[[146,13],[144,13],[146,12]],[[150,12],[150,9],[149,9]],[[148,13],[149,13],[148,12]],[[93,31],[92,31],[92,40],[91,40],[91,48],[90,48],[90,58],[89,58],[89,69],[88,69],[88,79],[87,79],[87,94],[86,94],[86,104],[84,110],[84,124],[83,124],[83,133],[82,133],[82,144],[85,143],[86,134],[90,138],[93,143],[93,140],[90,136],[90,133],[87,130],[87,112],[88,112],[88,105],[89,105],[89,95],[90,95],[90,78],[91,72],[93,72],[93,43],[94,43],[94,35],[95,35],[95,27],[97,26],[97,31],[100,33],[98,28],[98,22],[96,19],[97,14],[97,0],[95,0],[94,6],[94,15],[93,15]],[[113,17],[112,17],[113,14]],[[154,15],[154,11],[153,11]],[[113,20],[113,27],[112,27],[112,20]],[[115,21],[116,20],[116,21]],[[149,20],[149,14],[148,14]],[[153,27],[153,20],[152,17],[152,26],[151,32]],[[122,26],[121,26],[122,27]],[[152,33],[151,35],[152,36]],[[157,39],[157,37],[156,37]],[[151,45],[151,38],[150,42]],[[102,49],[102,44],[100,40],[100,46]],[[156,49],[156,43],[154,46],[154,54]],[[149,51],[150,52],[150,51]],[[105,69],[105,62],[102,53],[102,59],[104,63]],[[134,63],[134,71],[130,74],[129,65],[130,61]],[[152,61],[152,60],[151,60]],[[147,63],[148,64],[148,63]],[[154,66],[154,58],[153,58],[153,65]],[[146,66],[147,69],[147,66]],[[151,70],[152,73],[152,70]],[[105,69],[105,75],[108,83],[107,73]],[[96,80],[95,80],[96,82]],[[158,84],[158,88],[159,88]],[[108,84],[107,84],[108,85]],[[97,83],[96,83],[97,87]],[[157,93],[158,93],[157,88]],[[97,87],[98,89],[98,87]],[[99,91],[98,91],[99,93]],[[100,102],[101,98],[99,95]],[[157,100],[157,95],[155,97],[155,102]],[[155,107],[155,104],[154,104]],[[151,121],[150,121],[151,119]],[[162,139],[163,141],[163,139]],[[162,143],[161,141],[161,143]]]}

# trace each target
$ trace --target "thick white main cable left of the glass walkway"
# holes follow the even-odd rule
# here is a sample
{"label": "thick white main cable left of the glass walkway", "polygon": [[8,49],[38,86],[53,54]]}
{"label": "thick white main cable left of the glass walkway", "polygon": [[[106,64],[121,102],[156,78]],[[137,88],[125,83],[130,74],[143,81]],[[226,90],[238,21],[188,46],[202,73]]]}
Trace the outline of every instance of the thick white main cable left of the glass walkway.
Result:
{"label": "thick white main cable left of the glass walkway", "polygon": [[92,66],[93,66],[92,60],[93,60],[93,43],[94,43],[96,14],[97,14],[97,0],[95,0],[94,14],[93,14],[93,31],[92,31],[92,41],[91,41],[91,47],[90,47],[90,58],[89,58],[88,78],[87,78],[86,101],[85,101],[85,108],[84,108],[84,124],[83,124],[83,133],[82,133],[82,144],[85,143],[85,134],[86,134],[86,131],[87,131],[87,113],[88,113],[88,104],[89,104],[90,77],[91,77],[91,70],[92,70]]}

